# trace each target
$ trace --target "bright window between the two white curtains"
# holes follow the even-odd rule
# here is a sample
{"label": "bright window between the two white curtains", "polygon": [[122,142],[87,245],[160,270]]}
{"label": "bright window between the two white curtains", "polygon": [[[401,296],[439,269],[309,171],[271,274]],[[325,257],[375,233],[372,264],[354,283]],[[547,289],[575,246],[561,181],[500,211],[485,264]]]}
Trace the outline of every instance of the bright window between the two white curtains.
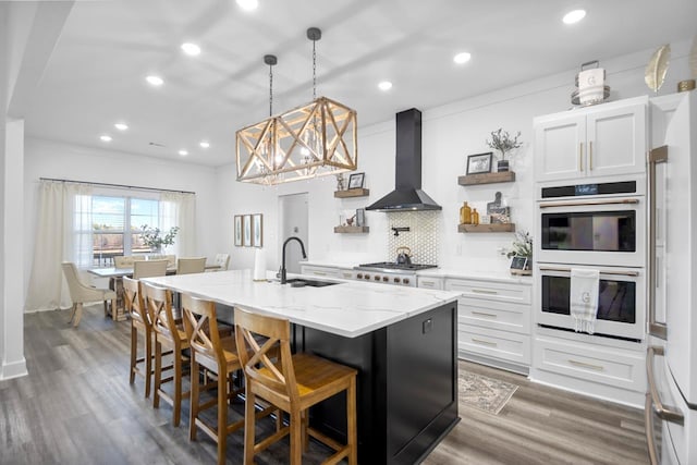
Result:
{"label": "bright window between the two white curtains", "polygon": [[140,232],[144,225],[159,228],[159,217],[157,199],[91,196],[94,265],[111,266],[114,256],[150,252]]}

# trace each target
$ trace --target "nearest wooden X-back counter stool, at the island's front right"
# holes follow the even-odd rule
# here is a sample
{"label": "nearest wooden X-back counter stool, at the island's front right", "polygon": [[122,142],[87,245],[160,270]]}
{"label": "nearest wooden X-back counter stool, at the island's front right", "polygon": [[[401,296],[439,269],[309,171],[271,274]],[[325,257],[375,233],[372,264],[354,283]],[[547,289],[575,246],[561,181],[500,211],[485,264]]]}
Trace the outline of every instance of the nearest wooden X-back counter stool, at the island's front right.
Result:
{"label": "nearest wooden X-back counter stool, at the island's front right", "polygon": [[[252,465],[254,455],[290,433],[291,465],[301,465],[307,446],[307,435],[335,452],[325,463],[346,457],[356,465],[356,370],[310,354],[291,354],[289,320],[253,314],[235,307],[235,342],[245,375],[244,463]],[[258,342],[258,336],[266,342]],[[273,362],[270,352],[280,344]],[[346,392],[346,444],[340,444],[308,425],[308,409],[334,394]],[[290,415],[286,426],[261,442],[256,442],[255,402],[257,397]]]}

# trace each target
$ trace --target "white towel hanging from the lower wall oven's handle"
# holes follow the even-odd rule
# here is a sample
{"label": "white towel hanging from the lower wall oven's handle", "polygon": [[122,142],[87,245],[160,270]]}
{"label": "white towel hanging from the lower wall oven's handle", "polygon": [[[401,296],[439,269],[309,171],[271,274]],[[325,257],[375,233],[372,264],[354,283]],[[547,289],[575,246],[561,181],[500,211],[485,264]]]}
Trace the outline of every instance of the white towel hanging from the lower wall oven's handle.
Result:
{"label": "white towel hanging from the lower wall oven's handle", "polygon": [[568,306],[574,319],[574,331],[592,334],[598,315],[598,284],[600,271],[572,268]]}

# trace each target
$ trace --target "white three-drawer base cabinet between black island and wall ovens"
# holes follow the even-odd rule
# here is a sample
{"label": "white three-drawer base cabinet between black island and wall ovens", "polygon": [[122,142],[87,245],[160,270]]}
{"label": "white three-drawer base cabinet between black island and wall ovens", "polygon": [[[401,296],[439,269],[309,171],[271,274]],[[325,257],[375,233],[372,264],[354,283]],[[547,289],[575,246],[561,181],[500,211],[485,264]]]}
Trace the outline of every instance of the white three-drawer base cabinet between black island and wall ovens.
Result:
{"label": "white three-drawer base cabinet between black island and wall ovens", "polygon": [[530,286],[448,278],[457,299],[462,358],[527,374],[530,366]]}

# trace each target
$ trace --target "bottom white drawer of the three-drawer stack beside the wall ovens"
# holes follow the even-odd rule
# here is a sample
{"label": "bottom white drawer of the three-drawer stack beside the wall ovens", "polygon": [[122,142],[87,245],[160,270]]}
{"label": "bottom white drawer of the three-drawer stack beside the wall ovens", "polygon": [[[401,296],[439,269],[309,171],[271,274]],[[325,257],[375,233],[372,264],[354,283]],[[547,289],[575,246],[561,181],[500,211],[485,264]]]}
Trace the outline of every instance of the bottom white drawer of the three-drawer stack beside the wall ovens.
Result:
{"label": "bottom white drawer of the three-drawer stack beside the wall ovens", "polygon": [[457,325],[460,352],[497,357],[521,365],[530,364],[530,338],[514,332]]}

